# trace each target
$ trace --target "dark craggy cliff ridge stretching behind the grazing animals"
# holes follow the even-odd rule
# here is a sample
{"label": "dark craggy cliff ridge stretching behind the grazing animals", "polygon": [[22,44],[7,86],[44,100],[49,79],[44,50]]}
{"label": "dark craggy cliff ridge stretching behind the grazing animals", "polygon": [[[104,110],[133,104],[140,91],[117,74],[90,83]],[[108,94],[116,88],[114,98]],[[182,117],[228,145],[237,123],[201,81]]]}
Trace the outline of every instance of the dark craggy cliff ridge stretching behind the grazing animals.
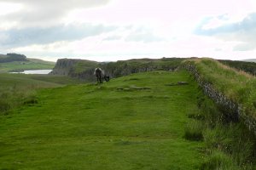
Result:
{"label": "dark craggy cliff ridge stretching behind the grazing animals", "polygon": [[162,58],[162,59],[130,59],[117,62],[100,63],[85,59],[58,59],[53,75],[67,75],[87,81],[94,81],[94,69],[101,67],[110,77],[122,77],[132,73],[145,71],[174,71],[183,59]]}

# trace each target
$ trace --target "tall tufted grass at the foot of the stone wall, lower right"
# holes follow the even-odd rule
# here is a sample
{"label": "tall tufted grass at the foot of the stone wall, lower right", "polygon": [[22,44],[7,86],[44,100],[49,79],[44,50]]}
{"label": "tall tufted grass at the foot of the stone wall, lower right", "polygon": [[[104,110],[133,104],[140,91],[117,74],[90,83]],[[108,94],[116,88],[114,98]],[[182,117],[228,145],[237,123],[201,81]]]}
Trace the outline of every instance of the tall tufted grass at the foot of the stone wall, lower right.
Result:
{"label": "tall tufted grass at the foot of the stone wall, lower right", "polygon": [[242,122],[226,122],[218,105],[202,92],[197,99],[198,108],[188,114],[191,121],[185,127],[185,137],[204,141],[207,156],[201,169],[255,169],[253,133]]}

